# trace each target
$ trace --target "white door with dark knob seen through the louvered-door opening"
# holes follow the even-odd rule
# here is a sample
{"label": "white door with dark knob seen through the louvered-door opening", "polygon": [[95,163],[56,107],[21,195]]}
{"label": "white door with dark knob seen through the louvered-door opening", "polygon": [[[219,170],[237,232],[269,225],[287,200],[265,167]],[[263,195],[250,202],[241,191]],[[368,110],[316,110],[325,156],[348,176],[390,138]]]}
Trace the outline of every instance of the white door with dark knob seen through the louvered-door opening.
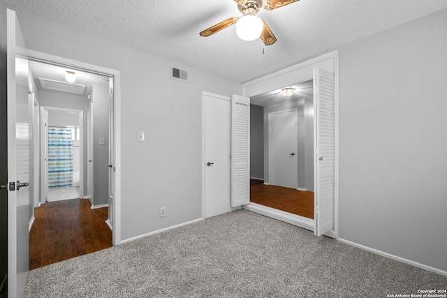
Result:
{"label": "white door with dark knob seen through the louvered-door opening", "polygon": [[298,188],[298,117],[296,110],[268,115],[270,184]]}

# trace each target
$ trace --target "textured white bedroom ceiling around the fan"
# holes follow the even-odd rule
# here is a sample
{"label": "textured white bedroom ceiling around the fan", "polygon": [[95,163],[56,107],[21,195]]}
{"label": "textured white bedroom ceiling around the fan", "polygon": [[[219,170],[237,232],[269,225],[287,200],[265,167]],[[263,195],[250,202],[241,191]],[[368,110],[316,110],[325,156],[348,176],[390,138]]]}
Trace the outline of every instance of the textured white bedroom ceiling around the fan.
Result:
{"label": "textured white bedroom ceiling around the fan", "polygon": [[235,26],[199,32],[239,17],[233,0],[6,0],[31,13],[161,57],[247,82],[339,45],[447,8],[446,0],[300,0],[261,10],[278,41],[237,38]]}

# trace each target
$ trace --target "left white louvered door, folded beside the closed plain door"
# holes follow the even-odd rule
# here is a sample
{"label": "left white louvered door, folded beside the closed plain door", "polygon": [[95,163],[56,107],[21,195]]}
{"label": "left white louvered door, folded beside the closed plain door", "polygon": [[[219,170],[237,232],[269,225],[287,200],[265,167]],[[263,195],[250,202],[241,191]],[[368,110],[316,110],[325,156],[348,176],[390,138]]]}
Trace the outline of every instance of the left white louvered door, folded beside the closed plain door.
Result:
{"label": "left white louvered door, folded beside the closed plain door", "polygon": [[231,96],[231,207],[250,202],[250,98]]}

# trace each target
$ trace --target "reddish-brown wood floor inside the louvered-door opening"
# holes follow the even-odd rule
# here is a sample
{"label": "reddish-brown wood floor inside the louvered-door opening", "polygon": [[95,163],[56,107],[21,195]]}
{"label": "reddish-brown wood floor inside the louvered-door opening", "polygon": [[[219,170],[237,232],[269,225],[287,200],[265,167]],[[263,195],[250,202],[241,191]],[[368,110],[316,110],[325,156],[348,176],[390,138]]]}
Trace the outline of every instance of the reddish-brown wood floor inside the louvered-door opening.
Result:
{"label": "reddish-brown wood floor inside the louvered-door opening", "polygon": [[314,219],[314,193],[250,180],[250,202]]}

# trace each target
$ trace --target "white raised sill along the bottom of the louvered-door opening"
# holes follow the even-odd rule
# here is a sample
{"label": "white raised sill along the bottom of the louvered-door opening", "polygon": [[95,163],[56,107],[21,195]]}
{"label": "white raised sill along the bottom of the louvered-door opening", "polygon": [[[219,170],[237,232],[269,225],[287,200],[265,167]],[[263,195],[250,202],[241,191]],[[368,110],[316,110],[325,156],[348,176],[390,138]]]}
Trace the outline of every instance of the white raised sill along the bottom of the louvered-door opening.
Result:
{"label": "white raised sill along the bottom of the louvered-door opening", "polygon": [[244,205],[244,209],[277,219],[279,221],[290,223],[291,225],[298,225],[298,227],[305,228],[306,230],[314,230],[314,220],[310,218],[305,218],[278,209],[265,207],[261,204],[256,203]]}

